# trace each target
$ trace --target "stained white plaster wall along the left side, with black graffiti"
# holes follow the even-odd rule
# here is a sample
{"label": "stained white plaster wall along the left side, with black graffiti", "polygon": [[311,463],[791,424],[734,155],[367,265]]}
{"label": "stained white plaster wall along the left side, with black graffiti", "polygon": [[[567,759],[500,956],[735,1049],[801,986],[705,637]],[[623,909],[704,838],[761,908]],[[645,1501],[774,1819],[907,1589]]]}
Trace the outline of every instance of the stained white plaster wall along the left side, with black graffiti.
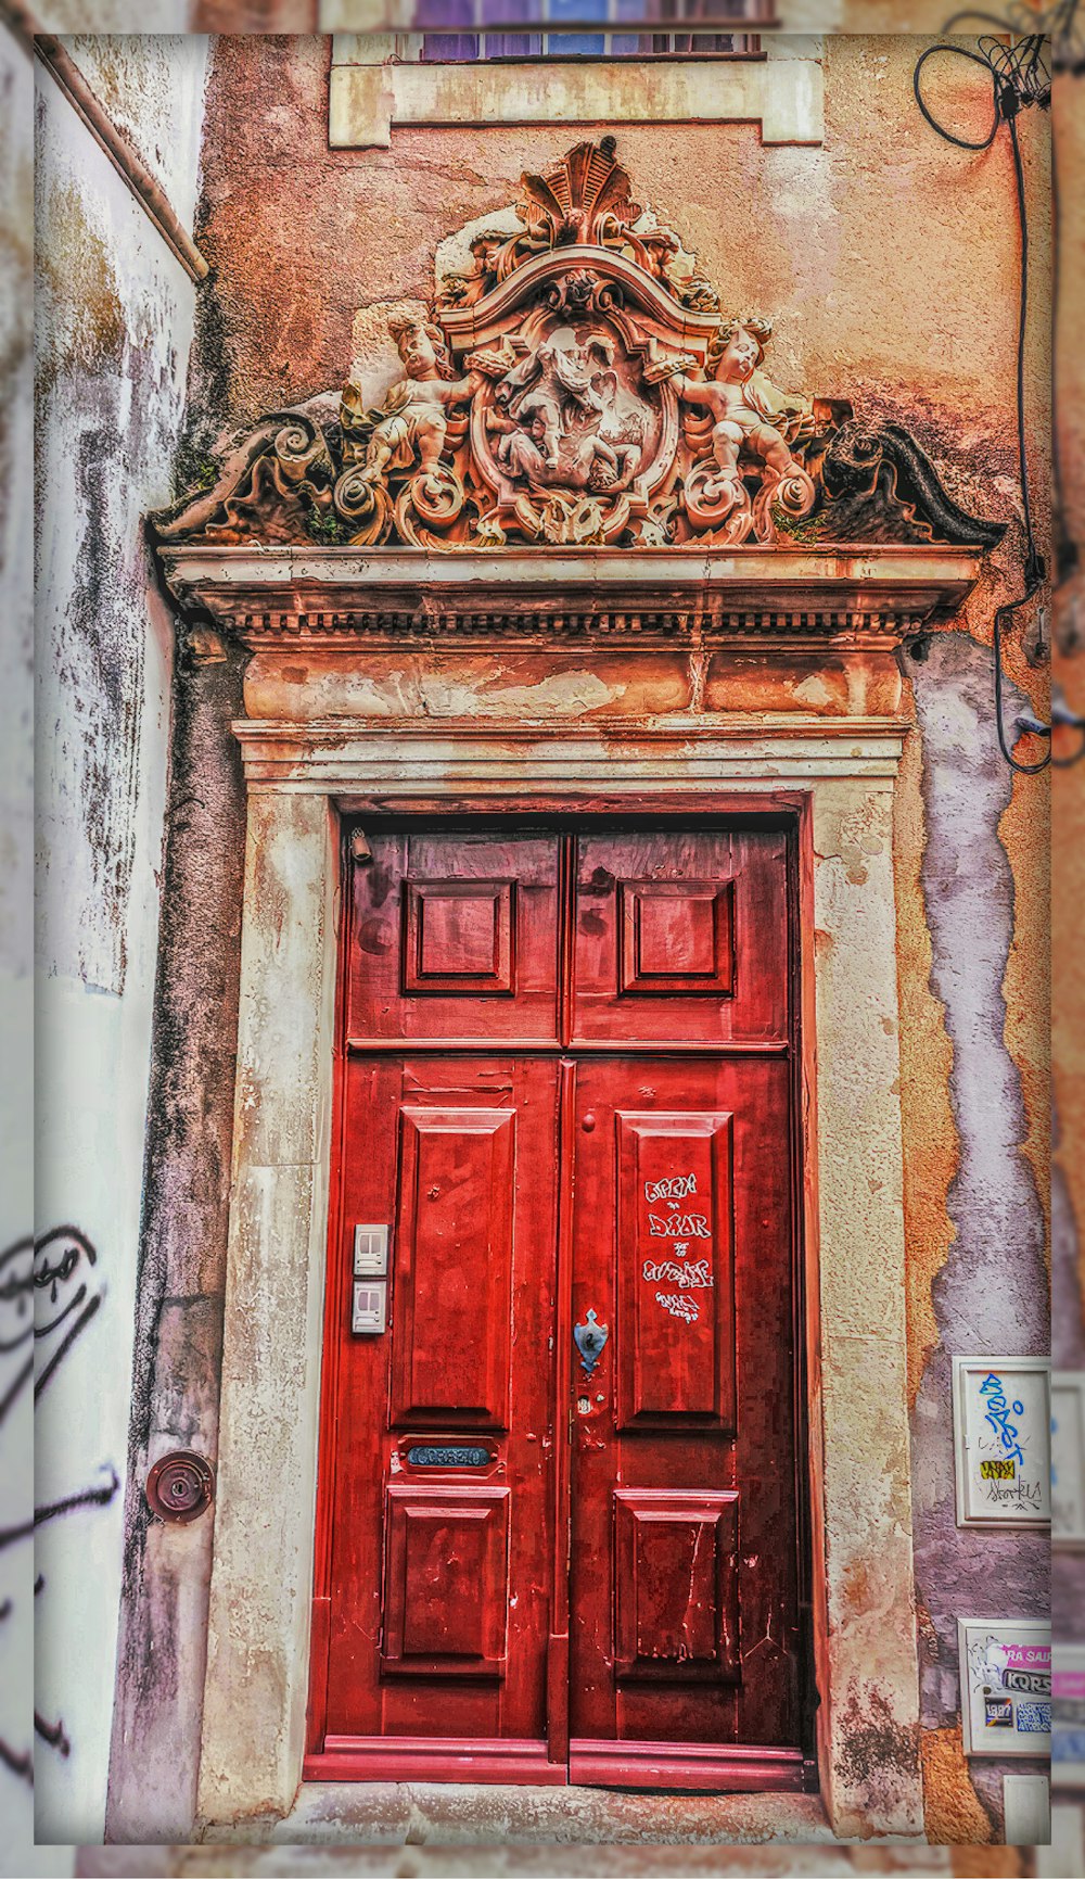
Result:
{"label": "stained white plaster wall along the left side, with black graffiti", "polygon": [[[77,47],[191,218],[205,39]],[[141,517],[169,496],[193,287],[53,77],[36,94],[39,1289],[38,1838],[101,1838],[130,1421],[173,620]],[[94,1312],[88,1313],[88,1306]],[[64,1315],[66,1313],[66,1315]],[[86,1313],[86,1315],[84,1315]],[[79,1327],[75,1338],[69,1332]]]}

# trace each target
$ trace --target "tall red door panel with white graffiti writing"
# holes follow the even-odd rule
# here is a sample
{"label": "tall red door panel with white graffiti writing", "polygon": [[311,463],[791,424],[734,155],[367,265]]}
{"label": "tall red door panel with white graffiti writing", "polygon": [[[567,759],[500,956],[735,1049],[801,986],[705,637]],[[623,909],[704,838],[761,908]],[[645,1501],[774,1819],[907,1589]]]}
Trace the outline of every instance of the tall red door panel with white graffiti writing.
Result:
{"label": "tall red door panel with white graffiti writing", "polygon": [[734,1430],[730,1116],[618,1110],[618,1426]]}

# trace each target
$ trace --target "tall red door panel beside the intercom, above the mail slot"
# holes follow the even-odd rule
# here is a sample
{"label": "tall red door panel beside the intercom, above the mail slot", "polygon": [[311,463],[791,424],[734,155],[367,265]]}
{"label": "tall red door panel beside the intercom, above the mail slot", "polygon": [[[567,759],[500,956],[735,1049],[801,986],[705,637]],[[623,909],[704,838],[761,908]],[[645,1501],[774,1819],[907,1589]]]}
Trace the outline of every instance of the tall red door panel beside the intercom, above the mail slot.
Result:
{"label": "tall red door panel beside the intercom, above the mail slot", "polygon": [[396,1428],[509,1419],[516,1118],[404,1107],[392,1293]]}

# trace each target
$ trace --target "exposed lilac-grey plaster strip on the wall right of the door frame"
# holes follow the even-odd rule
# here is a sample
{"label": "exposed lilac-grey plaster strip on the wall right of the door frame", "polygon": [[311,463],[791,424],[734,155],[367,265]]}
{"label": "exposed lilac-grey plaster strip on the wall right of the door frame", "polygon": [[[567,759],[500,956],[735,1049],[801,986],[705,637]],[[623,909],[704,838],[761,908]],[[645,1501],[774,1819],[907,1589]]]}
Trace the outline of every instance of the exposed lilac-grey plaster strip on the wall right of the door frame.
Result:
{"label": "exposed lilac-grey plaster strip on the wall right of the door frame", "polygon": [[[944,1193],[944,1263],[931,1283],[937,1345],[916,1396],[912,1520],[922,1638],[922,1719],[948,1732],[927,1751],[927,1785],[944,1808],[946,1755],[959,1766],[957,1616],[1042,1614],[1049,1601],[1044,1533],[957,1528],[954,1499],[954,1355],[1044,1355],[1049,1349],[1044,1195],[1021,1154],[1029,1131],[1023,1079],[1002,1030],[1002,977],[1014,943],[1016,883],[999,840],[1012,776],[984,727],[989,654],[963,633],[931,643],[914,667],[924,738],[927,846],[922,862],[931,938],[931,992],[950,1047],[948,1097],[955,1156]],[[1008,710],[1021,701],[1008,697]],[[1042,956],[1036,960],[1042,966]],[[1032,1060],[1044,1058],[1044,1005]],[[933,1197],[927,1197],[933,1199]],[[955,1751],[954,1751],[955,1746]],[[972,1785],[1001,1819],[995,1761],[972,1761]],[[948,1809],[952,1811],[952,1809]],[[948,1817],[939,1823],[950,1825]]]}

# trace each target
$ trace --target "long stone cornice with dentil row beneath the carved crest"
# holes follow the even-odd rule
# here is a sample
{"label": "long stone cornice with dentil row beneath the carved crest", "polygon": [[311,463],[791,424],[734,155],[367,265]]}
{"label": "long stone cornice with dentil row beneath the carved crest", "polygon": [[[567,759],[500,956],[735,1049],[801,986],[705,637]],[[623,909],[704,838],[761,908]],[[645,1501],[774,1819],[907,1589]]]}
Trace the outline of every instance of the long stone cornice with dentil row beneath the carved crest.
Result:
{"label": "long stone cornice with dentil row beneath the carved crest", "polygon": [[501,639],[875,646],[944,622],[980,556],[944,547],[160,549],[184,613],[250,648]]}

